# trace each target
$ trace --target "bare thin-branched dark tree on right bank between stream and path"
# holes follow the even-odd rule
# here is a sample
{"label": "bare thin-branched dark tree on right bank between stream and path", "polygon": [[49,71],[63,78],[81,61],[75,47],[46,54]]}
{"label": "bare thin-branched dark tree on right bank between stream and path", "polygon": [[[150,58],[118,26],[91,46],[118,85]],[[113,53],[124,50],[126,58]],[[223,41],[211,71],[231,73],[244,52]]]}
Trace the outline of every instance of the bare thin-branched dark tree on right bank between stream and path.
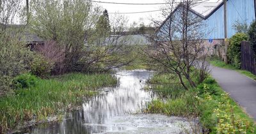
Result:
{"label": "bare thin-branched dark tree on right bank between stream and path", "polygon": [[158,66],[157,71],[177,75],[180,84],[189,89],[188,86],[196,87],[202,82],[208,73],[202,45],[205,24],[203,17],[191,9],[198,1],[182,0],[177,5],[175,0],[170,0],[169,3],[172,13],[160,26],[155,22],[159,29],[151,36],[152,45],[145,52],[152,66]]}

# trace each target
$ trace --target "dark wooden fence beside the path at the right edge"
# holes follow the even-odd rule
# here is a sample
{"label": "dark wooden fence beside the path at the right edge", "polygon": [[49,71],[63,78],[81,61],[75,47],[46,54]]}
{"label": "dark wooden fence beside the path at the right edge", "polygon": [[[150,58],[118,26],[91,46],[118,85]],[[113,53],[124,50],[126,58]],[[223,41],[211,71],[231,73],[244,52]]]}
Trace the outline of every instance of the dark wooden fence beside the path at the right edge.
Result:
{"label": "dark wooden fence beside the path at the right edge", "polygon": [[253,50],[250,42],[242,41],[241,43],[241,67],[256,75],[256,59],[253,57]]}

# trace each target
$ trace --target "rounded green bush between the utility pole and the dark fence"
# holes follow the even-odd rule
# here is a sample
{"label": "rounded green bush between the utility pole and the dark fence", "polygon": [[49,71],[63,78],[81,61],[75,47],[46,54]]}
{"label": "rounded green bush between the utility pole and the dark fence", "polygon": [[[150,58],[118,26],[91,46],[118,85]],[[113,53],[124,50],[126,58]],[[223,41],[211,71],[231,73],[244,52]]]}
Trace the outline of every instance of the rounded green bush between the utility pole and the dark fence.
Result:
{"label": "rounded green bush between the utility pole and the dark fence", "polygon": [[241,41],[246,40],[248,40],[248,36],[244,33],[237,33],[229,40],[228,62],[236,68],[241,68]]}

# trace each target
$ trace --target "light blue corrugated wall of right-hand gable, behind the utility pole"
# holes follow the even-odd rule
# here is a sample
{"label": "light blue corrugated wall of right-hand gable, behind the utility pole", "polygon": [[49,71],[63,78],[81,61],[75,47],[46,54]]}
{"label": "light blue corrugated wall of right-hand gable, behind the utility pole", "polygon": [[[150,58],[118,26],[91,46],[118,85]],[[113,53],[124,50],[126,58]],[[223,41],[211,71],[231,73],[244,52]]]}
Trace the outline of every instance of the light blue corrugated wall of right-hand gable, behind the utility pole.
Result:
{"label": "light blue corrugated wall of right-hand gable, behind the utility pole", "polygon": [[[228,38],[236,34],[232,27],[238,20],[250,24],[255,20],[254,0],[228,0],[227,1],[227,29]],[[205,20],[209,31],[209,38],[220,39],[224,36],[224,5]]]}

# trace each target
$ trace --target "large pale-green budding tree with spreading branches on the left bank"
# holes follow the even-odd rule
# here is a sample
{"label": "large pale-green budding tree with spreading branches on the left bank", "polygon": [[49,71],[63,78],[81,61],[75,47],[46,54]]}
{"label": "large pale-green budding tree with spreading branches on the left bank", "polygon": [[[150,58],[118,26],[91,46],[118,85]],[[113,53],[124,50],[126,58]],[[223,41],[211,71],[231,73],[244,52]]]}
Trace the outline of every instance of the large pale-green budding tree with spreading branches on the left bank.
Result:
{"label": "large pale-green budding tree with spreading branches on the left bank", "polygon": [[122,61],[129,50],[124,49],[127,38],[117,34],[127,31],[124,17],[111,21],[107,10],[100,14],[100,7],[84,0],[33,0],[31,10],[31,31],[64,48],[64,73],[108,71],[127,64]]}

